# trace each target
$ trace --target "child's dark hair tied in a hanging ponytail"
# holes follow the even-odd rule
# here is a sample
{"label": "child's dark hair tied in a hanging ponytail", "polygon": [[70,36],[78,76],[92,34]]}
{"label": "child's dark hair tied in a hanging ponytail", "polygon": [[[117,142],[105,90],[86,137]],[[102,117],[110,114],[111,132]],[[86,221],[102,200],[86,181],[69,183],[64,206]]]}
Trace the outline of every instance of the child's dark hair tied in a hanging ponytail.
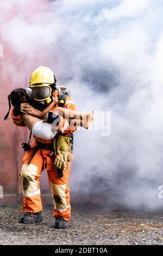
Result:
{"label": "child's dark hair tied in a hanging ponytail", "polygon": [[[8,96],[8,101],[9,101],[9,111],[8,113],[5,115],[4,120],[6,120],[8,118],[8,115],[10,113],[10,109],[11,109],[11,104],[15,110],[14,115],[17,115],[20,113],[20,105],[21,103],[24,103],[26,101],[24,101],[24,96],[26,96],[27,101],[30,101],[30,97],[28,96],[27,92],[25,89],[23,88],[18,88],[15,90],[12,90],[12,92],[10,93],[10,95]],[[19,110],[19,111],[18,111]],[[19,112],[19,113],[18,113]]]}

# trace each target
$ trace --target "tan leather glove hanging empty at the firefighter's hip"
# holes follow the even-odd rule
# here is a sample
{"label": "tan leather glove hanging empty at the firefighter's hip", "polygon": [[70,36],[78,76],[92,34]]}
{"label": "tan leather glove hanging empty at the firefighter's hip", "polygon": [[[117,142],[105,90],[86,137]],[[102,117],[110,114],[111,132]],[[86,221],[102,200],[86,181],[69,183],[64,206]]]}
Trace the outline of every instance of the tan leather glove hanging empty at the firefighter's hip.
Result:
{"label": "tan leather glove hanging empty at the firefighter's hip", "polygon": [[68,167],[67,162],[71,161],[71,143],[70,137],[63,135],[57,135],[54,138],[54,151],[55,160],[54,166],[59,169],[66,169]]}

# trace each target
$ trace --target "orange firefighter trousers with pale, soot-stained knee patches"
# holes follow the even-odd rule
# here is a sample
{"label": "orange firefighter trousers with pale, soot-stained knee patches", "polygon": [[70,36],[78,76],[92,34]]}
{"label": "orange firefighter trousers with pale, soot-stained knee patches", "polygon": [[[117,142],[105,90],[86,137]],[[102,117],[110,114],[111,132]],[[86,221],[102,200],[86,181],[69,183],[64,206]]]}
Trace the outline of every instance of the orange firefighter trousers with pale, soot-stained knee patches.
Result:
{"label": "orange firefighter trousers with pale, soot-stained knee patches", "polygon": [[[32,148],[35,145],[36,144],[33,142]],[[29,164],[32,153],[33,149],[30,149],[24,155],[20,173],[24,212],[38,212],[42,210],[39,178],[41,177],[42,170],[47,169],[54,203],[53,216],[62,217],[65,221],[69,221],[71,206],[68,178],[70,175],[71,162],[68,162],[68,168],[63,170],[63,177],[58,178],[57,168],[54,168],[53,165],[54,158],[49,156],[52,150],[39,149]]]}

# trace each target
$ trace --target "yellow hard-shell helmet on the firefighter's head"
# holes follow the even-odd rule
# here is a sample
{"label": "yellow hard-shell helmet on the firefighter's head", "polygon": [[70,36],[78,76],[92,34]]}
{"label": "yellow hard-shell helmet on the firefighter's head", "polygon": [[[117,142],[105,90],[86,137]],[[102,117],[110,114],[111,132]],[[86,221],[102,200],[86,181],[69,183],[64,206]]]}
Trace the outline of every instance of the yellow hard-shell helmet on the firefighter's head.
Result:
{"label": "yellow hard-shell helmet on the firefighter's head", "polygon": [[46,66],[39,66],[35,69],[30,77],[29,86],[33,87],[35,84],[53,84],[55,83],[55,76],[51,69]]}

